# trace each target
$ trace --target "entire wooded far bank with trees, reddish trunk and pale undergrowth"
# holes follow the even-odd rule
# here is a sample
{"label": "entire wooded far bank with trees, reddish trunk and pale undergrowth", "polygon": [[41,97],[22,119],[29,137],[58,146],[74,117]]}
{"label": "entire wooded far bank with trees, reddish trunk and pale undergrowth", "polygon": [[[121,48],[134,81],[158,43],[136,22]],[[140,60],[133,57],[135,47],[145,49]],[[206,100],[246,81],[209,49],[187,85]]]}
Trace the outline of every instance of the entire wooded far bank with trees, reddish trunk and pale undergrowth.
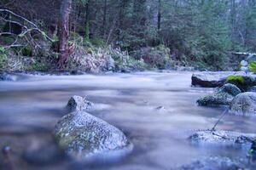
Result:
{"label": "entire wooded far bank with trees, reddish trunk and pale undergrowth", "polygon": [[0,8],[2,70],[227,71],[241,60],[234,53],[256,48],[254,0],[3,0]]}

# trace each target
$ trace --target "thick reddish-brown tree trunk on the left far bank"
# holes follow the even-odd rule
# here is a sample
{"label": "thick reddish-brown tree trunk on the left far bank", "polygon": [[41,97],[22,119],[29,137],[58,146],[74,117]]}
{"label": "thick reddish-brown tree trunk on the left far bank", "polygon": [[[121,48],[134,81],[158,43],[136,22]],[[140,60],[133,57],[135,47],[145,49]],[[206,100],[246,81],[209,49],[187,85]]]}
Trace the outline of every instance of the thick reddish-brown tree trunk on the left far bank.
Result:
{"label": "thick reddish-brown tree trunk on the left far bank", "polygon": [[58,29],[58,37],[59,37],[59,67],[63,69],[65,62],[67,61],[68,57],[68,20],[69,14],[71,10],[71,3],[72,0],[62,0],[61,2],[61,14],[60,14],[60,21],[59,21],[59,29]]}

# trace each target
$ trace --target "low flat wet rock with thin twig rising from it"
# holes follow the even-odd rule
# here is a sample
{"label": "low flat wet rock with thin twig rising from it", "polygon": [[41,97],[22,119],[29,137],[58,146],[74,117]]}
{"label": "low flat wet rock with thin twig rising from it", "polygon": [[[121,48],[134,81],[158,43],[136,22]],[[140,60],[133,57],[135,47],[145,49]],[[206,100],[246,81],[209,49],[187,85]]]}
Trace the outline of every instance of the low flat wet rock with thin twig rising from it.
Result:
{"label": "low flat wet rock with thin twig rising from it", "polygon": [[192,142],[209,144],[251,144],[256,133],[238,133],[231,131],[199,131],[189,137]]}

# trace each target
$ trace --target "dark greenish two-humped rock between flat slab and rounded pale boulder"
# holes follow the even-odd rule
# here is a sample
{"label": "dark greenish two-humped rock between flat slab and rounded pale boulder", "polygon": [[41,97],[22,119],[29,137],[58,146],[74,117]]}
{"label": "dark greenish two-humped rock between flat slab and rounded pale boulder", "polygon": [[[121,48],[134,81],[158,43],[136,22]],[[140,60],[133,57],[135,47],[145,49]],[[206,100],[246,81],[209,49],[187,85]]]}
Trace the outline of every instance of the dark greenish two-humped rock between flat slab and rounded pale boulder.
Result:
{"label": "dark greenish two-humped rock between flat slab and rounded pale boulder", "polygon": [[197,104],[205,106],[230,105],[237,94],[241,94],[241,90],[235,85],[228,83],[218,88],[215,93],[202,96],[197,100]]}

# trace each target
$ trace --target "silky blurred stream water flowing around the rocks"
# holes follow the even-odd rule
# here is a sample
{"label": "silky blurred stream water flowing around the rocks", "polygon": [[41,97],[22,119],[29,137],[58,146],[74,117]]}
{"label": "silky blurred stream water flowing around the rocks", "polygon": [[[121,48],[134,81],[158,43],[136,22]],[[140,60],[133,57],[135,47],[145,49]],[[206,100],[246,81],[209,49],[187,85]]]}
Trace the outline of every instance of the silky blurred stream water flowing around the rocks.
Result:
{"label": "silky blurred stream water flowing around the rocks", "polygon": [[[189,142],[191,129],[211,128],[224,111],[195,104],[213,89],[191,87],[191,75],[170,71],[28,76],[18,82],[0,82],[0,146],[11,147],[9,162],[14,169],[27,170],[171,169],[206,156],[245,156],[247,150]],[[101,105],[90,113],[119,127],[134,144],[131,154],[79,166],[59,153],[52,130],[67,114],[65,105],[73,95],[87,96]],[[253,117],[228,115],[218,128],[255,133],[254,125]],[[46,161],[38,161],[38,156]],[[4,166],[3,154],[0,158]]]}

